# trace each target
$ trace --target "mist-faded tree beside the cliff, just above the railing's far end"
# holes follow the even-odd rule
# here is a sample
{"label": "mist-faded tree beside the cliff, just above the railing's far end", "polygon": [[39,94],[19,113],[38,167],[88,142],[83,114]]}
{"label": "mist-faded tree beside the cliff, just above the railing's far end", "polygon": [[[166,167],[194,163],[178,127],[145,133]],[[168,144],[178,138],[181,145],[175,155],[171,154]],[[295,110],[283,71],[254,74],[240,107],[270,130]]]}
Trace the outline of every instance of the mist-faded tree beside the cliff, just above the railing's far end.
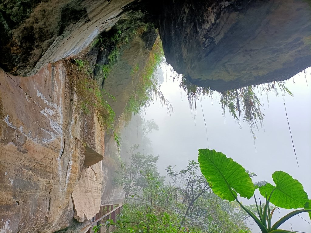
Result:
{"label": "mist-faded tree beside the cliff, just above the railing's far end", "polygon": [[123,170],[116,171],[121,177],[114,178],[114,182],[118,185],[123,185],[125,191],[124,202],[127,201],[128,196],[139,191],[146,186],[146,173],[158,173],[156,170],[156,162],[159,156],[153,154],[146,155],[140,152],[135,153],[139,148],[139,144],[131,146],[130,158],[128,162],[123,163]]}

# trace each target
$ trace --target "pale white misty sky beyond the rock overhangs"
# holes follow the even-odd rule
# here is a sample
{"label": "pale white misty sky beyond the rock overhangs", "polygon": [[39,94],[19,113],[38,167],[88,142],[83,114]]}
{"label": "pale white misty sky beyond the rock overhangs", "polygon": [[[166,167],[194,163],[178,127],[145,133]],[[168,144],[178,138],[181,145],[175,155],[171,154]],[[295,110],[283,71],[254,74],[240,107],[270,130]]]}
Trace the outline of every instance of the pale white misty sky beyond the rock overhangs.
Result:
{"label": "pale white misty sky beyond the rock overhangs", "polygon": [[[189,110],[187,96],[179,89],[179,83],[169,80],[170,68],[162,66],[161,69],[164,72],[160,72],[164,76],[161,91],[173,105],[174,112],[168,115],[167,109],[155,102],[143,114],[145,120],[154,119],[160,128],[148,137],[152,141],[154,154],[160,155],[158,169],[161,175],[166,175],[165,167],[168,165],[175,166],[176,170],[185,168],[188,160],[197,161],[198,148],[209,148],[221,151],[245,169],[257,173],[257,177],[253,178],[254,182],[267,180],[273,184],[272,173],[285,171],[302,183],[311,198],[311,88],[307,87],[303,72],[294,77],[295,84],[293,78],[285,84],[294,94],[294,98],[285,96],[285,104],[298,167],[281,96],[269,94],[269,105],[264,97],[264,128],[256,131],[255,148],[247,123],[241,122],[240,129],[238,123],[230,117],[229,111],[225,118],[222,116],[218,94],[214,95],[213,104],[210,98],[202,99],[206,135],[200,101],[197,102],[197,112],[194,114]],[[311,68],[306,73],[310,86]],[[254,204],[253,199],[243,201]],[[286,211],[282,210],[281,216]],[[307,213],[300,216],[311,222]],[[280,214],[274,215],[275,221],[279,218]],[[296,216],[282,225],[282,229],[290,230],[292,227],[294,231],[311,232],[311,224],[308,222]],[[257,228],[253,228],[253,231],[259,232]]]}

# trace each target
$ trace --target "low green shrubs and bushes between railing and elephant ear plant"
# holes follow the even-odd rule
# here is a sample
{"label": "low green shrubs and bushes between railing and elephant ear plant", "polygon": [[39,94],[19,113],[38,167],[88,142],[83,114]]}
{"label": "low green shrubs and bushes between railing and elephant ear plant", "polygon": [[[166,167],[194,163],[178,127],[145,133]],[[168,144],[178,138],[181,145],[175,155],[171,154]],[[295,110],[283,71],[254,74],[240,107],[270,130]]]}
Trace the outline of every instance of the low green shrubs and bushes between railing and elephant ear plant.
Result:
{"label": "low green shrubs and bushes between railing and elephant ear plant", "polygon": [[[172,182],[168,184],[158,172],[142,172],[145,185],[139,192],[129,196],[131,198],[124,205],[118,220],[115,223],[109,221],[108,225],[115,225],[116,233],[248,232],[241,208],[207,191],[206,180],[202,175],[197,175],[197,165],[189,161],[188,166],[180,171],[169,167]],[[202,182],[206,185],[202,185]],[[183,220],[189,202],[193,200],[192,192],[197,199]]]}

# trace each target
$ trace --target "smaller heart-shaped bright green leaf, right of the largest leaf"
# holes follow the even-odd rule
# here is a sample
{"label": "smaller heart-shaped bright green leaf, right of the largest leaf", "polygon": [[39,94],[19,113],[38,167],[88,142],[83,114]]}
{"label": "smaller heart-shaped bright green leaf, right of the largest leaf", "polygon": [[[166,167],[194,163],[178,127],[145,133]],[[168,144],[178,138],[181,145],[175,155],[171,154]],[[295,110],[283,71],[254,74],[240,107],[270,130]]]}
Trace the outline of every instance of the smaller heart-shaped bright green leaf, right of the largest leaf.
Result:
{"label": "smaller heart-shaped bright green leaf, right of the largest leaf", "polygon": [[272,174],[276,186],[270,183],[259,187],[260,194],[264,197],[271,195],[270,202],[285,209],[303,208],[308,201],[308,195],[298,180],[284,171],[276,171]]}

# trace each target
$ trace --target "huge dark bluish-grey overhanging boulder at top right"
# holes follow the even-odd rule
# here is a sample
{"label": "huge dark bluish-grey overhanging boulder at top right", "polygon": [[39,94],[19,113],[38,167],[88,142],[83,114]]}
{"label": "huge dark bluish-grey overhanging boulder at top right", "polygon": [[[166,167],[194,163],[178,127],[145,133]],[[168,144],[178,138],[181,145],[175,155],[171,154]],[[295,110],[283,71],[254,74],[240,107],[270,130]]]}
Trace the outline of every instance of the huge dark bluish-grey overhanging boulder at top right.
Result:
{"label": "huge dark bluish-grey overhanging boulder at top right", "polygon": [[166,60],[198,86],[224,91],[286,80],[311,65],[303,0],[164,1]]}

